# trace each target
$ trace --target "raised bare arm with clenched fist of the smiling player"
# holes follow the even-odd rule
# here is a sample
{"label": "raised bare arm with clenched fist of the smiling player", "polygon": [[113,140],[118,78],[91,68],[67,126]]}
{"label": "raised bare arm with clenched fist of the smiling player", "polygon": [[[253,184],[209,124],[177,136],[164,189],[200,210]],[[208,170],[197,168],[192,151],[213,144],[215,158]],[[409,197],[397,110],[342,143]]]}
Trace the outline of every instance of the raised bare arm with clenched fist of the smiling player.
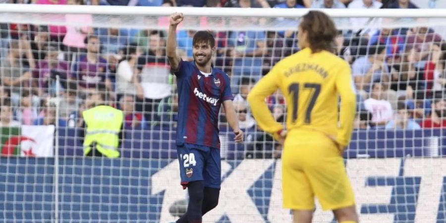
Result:
{"label": "raised bare arm with clenched fist of the smiling player", "polygon": [[169,59],[170,68],[174,71],[178,70],[181,58],[176,54],[176,27],[183,21],[182,13],[173,13],[170,15],[169,32],[167,34],[166,56]]}

